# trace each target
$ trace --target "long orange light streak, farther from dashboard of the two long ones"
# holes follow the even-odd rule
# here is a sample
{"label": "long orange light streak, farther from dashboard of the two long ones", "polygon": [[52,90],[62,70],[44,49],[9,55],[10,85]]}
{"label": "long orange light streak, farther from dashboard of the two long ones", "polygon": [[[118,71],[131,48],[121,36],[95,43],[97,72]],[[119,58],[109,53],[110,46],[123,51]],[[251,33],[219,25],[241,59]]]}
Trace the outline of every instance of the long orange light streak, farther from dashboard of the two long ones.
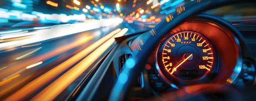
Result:
{"label": "long orange light streak, farther from dashboard of the two long ones", "polygon": [[[102,45],[106,40],[110,39],[115,34],[117,34],[117,32],[120,32],[120,31],[121,31],[121,29],[118,28],[118,29],[110,32],[108,35],[106,35],[105,37],[103,37],[103,38],[99,39],[98,41],[94,42],[92,45],[90,45],[89,47],[83,49],[78,54],[75,54],[74,56],[72,56],[71,58],[66,60],[65,62],[62,62],[61,64],[59,64],[58,66],[54,67],[53,69],[47,71],[46,73],[44,73],[40,77],[38,77],[35,80],[29,82],[27,85],[25,85],[23,88],[21,88],[17,92],[13,93],[13,95],[10,95],[5,100],[6,101],[22,100],[22,98],[24,98],[25,96],[30,95],[31,92],[36,92],[36,90],[38,90],[40,87],[45,86],[45,84],[47,84],[49,81],[53,80],[60,73],[62,73],[63,71],[67,70],[68,68],[70,68],[77,61],[79,61],[82,58],[84,58],[84,56],[86,56],[87,54],[92,52],[92,50],[94,50],[97,47],[99,47],[100,45]],[[94,38],[93,36],[90,36],[90,37],[87,37],[86,39],[82,39],[82,41],[86,42],[86,41],[89,41],[89,40],[91,40],[93,38]],[[75,43],[77,44],[77,42],[75,42]],[[79,44],[81,45],[83,43],[79,43]],[[68,47],[68,49],[72,49],[72,47],[70,47],[70,46],[73,46],[73,45],[70,44],[70,45],[66,45],[66,46],[60,47],[58,49],[58,51],[63,51],[63,48],[66,49],[67,47]],[[56,50],[54,53],[51,53],[51,54],[59,54],[60,52],[58,52],[58,51]],[[64,50],[64,52],[65,51],[67,51],[67,50]],[[46,56],[51,56],[51,54],[47,54]],[[97,55],[99,55],[99,53]],[[40,58],[40,57],[38,57],[38,58]],[[79,72],[81,72],[81,71],[79,71]],[[51,93],[51,95],[52,95],[52,93]]]}

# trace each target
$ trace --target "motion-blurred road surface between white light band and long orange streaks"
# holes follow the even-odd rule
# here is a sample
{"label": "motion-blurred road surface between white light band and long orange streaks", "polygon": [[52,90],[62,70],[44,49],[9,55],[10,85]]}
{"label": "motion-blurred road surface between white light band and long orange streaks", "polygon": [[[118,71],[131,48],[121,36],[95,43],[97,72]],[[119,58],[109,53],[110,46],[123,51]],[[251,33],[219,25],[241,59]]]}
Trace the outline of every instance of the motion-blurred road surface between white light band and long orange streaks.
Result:
{"label": "motion-blurred road surface between white light band and long orange streaks", "polygon": [[[60,65],[72,56],[75,56],[102,37],[107,36],[112,31],[123,28],[129,29],[126,34],[132,34],[135,30],[149,29],[136,24],[128,24],[124,21],[118,26],[111,25],[100,27],[94,30],[79,32],[1,51],[0,98],[2,98],[3,95],[8,96],[9,94],[16,92],[19,88],[25,86],[25,84],[28,84],[40,75],[43,75],[47,71]],[[87,55],[82,57],[86,57]],[[70,64],[68,68],[63,69],[63,72],[60,73],[64,73],[72,68],[76,62],[79,62],[79,59]],[[61,75],[57,75],[57,77],[58,76]]]}

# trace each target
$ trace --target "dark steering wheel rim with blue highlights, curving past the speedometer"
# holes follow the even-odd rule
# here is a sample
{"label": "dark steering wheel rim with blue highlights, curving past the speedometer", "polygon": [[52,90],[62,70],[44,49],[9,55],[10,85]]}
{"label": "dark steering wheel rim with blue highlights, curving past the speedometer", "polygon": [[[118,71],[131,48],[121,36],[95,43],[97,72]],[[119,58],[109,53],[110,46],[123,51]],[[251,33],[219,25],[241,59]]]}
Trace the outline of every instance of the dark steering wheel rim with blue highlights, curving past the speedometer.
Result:
{"label": "dark steering wheel rim with blue highlights, curving past the speedometer", "polygon": [[[154,50],[154,46],[157,46],[157,43],[164,37],[164,34],[168,32],[170,29],[175,28],[182,21],[191,17],[192,15],[196,15],[205,11],[207,9],[213,9],[217,6],[223,6],[226,4],[233,4],[239,2],[245,2],[247,0],[194,0],[190,2],[186,6],[184,6],[184,11],[176,11],[173,15],[168,15],[166,19],[163,19],[157,26],[155,26],[152,30],[141,34],[139,37],[143,38],[143,43],[140,48],[134,49],[133,55],[128,58],[128,60],[124,64],[124,70],[121,71],[120,75],[117,78],[117,81],[112,88],[110,93],[110,97],[108,100],[110,101],[120,101],[124,100],[125,95],[128,93],[129,86],[132,80],[137,77],[137,74],[140,73],[142,67],[146,62],[145,57],[149,56],[151,52]],[[249,1],[249,0],[248,0]],[[224,22],[228,25],[228,22]],[[241,36],[240,32],[236,30],[233,26],[228,26],[238,37],[240,41],[240,46],[242,49],[247,50],[247,46],[243,43],[244,39]],[[131,48],[133,46],[137,46],[139,43],[132,43]],[[243,52],[243,56],[249,56],[249,52]],[[177,88],[179,89],[179,88]]]}

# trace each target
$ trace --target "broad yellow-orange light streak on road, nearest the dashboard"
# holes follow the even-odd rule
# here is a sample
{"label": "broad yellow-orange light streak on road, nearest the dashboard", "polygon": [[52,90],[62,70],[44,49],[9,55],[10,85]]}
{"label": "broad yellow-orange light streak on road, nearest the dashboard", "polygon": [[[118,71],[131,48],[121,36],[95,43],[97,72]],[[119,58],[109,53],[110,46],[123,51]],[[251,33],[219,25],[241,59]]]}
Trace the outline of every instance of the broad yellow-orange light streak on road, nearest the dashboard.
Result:
{"label": "broad yellow-orange light streak on road, nearest the dashboard", "polygon": [[123,36],[127,31],[128,28],[124,28],[113,37],[108,39],[105,43],[100,45],[86,58],[81,60],[81,62],[76,64],[72,69],[61,75],[61,77],[52,82],[52,84],[39,92],[38,95],[36,95],[31,100],[54,100],[54,98],[56,98],[65,88],[67,88],[67,86],[74,82],[74,78],[79,77],[86,69],[88,69],[88,67],[90,67],[90,65],[93,64],[94,61],[99,58],[99,56],[101,56],[101,54],[103,54],[115,42],[116,37]]}

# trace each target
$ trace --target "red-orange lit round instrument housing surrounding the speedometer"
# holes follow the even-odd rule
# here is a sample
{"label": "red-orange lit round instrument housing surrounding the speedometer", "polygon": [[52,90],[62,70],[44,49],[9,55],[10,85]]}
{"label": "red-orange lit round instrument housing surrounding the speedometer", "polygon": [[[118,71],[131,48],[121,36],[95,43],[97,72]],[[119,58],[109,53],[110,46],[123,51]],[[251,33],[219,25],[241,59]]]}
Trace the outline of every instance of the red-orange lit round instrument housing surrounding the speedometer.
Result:
{"label": "red-orange lit round instrument housing surrounding the speedometer", "polygon": [[148,64],[173,88],[232,84],[241,71],[242,50],[236,35],[219,21],[202,16],[170,30],[151,53],[155,62]]}

